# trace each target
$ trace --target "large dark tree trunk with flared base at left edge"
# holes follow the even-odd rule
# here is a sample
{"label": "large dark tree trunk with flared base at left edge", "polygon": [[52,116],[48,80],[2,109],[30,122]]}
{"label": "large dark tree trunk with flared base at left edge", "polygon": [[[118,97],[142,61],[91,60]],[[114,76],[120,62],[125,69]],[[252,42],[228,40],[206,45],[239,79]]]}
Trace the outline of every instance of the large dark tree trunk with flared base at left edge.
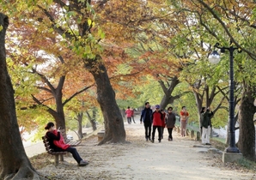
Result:
{"label": "large dark tree trunk with flared base at left edge", "polygon": [[0,13],[0,179],[39,179],[25,153],[17,123],[14,89],[6,67],[4,39],[8,25],[8,17]]}

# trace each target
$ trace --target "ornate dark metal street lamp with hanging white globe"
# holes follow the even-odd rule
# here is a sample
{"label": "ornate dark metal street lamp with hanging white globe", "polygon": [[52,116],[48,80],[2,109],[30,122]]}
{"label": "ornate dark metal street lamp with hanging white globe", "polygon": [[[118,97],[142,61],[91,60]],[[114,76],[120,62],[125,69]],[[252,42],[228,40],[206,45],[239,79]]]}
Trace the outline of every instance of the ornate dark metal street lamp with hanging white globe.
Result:
{"label": "ornate dark metal street lamp with hanging white globe", "polygon": [[[220,49],[221,52],[225,50],[229,51],[229,147],[225,149],[227,153],[240,153],[239,149],[235,147],[235,100],[234,100],[234,57],[233,52],[237,50],[241,53],[241,50],[233,46],[230,41],[229,47],[220,47],[218,43],[214,45],[215,48]],[[220,55],[217,51],[213,51],[209,56],[210,63],[218,63],[220,61]]]}

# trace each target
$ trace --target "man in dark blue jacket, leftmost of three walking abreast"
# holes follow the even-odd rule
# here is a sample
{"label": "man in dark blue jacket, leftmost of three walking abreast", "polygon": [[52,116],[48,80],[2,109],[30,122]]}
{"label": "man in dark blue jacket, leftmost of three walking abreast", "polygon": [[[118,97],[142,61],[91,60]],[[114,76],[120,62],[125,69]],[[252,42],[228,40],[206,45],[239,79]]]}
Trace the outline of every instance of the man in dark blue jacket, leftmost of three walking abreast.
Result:
{"label": "man in dark blue jacket, leftmost of three walking abreast", "polygon": [[140,117],[140,123],[144,123],[145,128],[145,138],[146,141],[150,141],[151,126],[152,126],[152,110],[150,109],[149,102],[145,103],[145,108],[143,109]]}

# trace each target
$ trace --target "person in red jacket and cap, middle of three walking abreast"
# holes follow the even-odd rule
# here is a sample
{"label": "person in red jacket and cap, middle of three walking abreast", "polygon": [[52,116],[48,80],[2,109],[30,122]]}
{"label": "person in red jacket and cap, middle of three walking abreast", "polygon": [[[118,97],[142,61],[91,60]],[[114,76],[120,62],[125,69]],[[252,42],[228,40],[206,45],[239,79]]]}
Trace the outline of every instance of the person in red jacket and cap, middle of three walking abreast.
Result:
{"label": "person in red jacket and cap, middle of three walking abreast", "polygon": [[152,113],[153,120],[153,132],[152,132],[152,140],[155,141],[155,129],[158,131],[158,141],[162,140],[162,112],[160,111],[160,105],[155,105],[155,111]]}

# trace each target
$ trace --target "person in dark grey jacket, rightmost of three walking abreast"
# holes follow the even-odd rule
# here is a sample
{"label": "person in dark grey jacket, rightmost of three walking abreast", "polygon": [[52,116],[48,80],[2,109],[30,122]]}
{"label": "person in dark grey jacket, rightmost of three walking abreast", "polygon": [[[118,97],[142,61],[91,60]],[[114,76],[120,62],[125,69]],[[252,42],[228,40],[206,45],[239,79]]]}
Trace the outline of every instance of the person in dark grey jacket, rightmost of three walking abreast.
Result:
{"label": "person in dark grey jacket, rightmost of three walking abreast", "polygon": [[168,129],[168,141],[173,141],[173,129],[176,123],[176,116],[173,112],[173,107],[168,107],[168,113],[165,117],[166,127]]}

